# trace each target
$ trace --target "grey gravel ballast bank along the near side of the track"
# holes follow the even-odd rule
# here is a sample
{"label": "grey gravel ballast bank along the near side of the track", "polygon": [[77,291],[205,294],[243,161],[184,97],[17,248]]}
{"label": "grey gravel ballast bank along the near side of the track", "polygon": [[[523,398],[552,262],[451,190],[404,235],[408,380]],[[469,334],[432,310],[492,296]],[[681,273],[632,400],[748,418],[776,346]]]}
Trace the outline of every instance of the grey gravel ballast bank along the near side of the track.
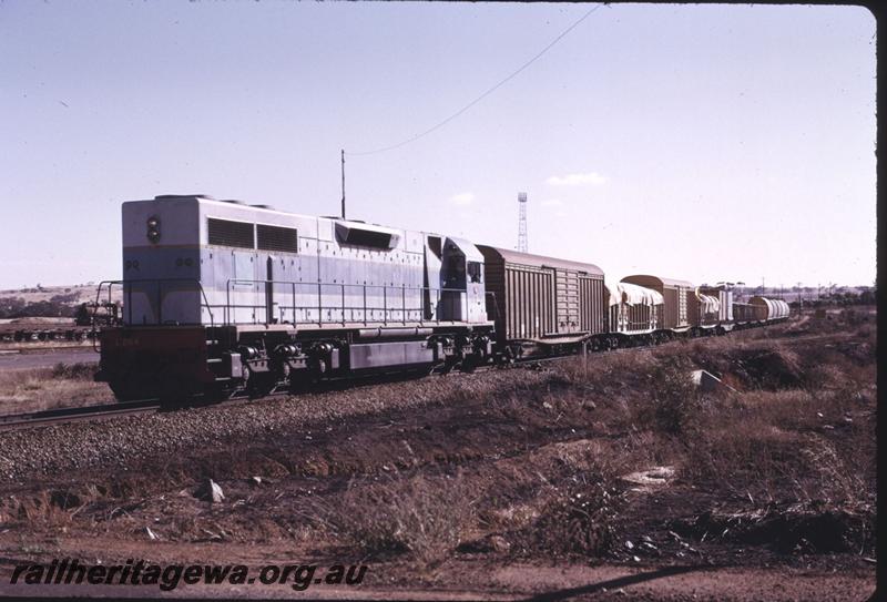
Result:
{"label": "grey gravel ballast bank along the near side of the track", "polygon": [[538,386],[546,373],[490,370],[356,386],[172,412],[0,431],[0,483],[74,469],[125,469],[146,458],[310,430],[324,422]]}

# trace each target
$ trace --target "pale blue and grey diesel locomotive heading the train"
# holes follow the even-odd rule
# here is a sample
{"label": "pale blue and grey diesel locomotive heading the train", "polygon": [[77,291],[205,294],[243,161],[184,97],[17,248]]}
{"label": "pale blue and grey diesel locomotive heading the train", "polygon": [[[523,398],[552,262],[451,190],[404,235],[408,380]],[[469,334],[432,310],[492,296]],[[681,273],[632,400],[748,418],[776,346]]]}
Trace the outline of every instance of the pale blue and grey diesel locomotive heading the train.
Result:
{"label": "pale blue and grey diesel locomotive heading the train", "polygon": [[211,197],[123,204],[120,399],[265,394],[319,378],[486,361],[483,257],[463,239]]}

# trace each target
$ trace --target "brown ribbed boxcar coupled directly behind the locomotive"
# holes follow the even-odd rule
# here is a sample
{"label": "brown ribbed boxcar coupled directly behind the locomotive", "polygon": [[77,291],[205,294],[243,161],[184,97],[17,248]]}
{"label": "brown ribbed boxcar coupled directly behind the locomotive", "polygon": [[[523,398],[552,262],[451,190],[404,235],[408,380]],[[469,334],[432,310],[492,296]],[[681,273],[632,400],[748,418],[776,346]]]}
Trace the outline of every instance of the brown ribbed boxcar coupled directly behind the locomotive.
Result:
{"label": "brown ribbed boxcar coupled directly behind the locomotive", "polygon": [[487,275],[487,312],[500,344],[559,344],[604,331],[603,271],[478,245]]}

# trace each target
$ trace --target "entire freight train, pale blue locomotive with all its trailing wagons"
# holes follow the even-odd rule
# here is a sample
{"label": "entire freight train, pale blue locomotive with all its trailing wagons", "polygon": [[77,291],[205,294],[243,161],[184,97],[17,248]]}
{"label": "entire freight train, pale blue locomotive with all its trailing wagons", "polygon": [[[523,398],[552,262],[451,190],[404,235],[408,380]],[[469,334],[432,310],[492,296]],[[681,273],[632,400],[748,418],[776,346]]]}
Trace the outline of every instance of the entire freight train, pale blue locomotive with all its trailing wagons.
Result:
{"label": "entire freight train, pale blue locomotive with all its trailing wagons", "polygon": [[96,380],[120,400],[262,396],[324,379],[470,370],[724,334],[782,300],[430,232],[206,195],[123,204],[120,324]]}

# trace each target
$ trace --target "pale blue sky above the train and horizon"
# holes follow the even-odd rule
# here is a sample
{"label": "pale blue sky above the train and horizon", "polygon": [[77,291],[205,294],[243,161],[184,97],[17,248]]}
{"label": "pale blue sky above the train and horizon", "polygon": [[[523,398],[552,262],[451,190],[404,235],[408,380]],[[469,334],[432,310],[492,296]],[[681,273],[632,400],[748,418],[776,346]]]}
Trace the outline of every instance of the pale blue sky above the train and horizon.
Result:
{"label": "pale blue sky above the train and horizon", "polygon": [[121,277],[205,193],[697,284],[871,285],[860,7],[0,2],[0,288]]}

